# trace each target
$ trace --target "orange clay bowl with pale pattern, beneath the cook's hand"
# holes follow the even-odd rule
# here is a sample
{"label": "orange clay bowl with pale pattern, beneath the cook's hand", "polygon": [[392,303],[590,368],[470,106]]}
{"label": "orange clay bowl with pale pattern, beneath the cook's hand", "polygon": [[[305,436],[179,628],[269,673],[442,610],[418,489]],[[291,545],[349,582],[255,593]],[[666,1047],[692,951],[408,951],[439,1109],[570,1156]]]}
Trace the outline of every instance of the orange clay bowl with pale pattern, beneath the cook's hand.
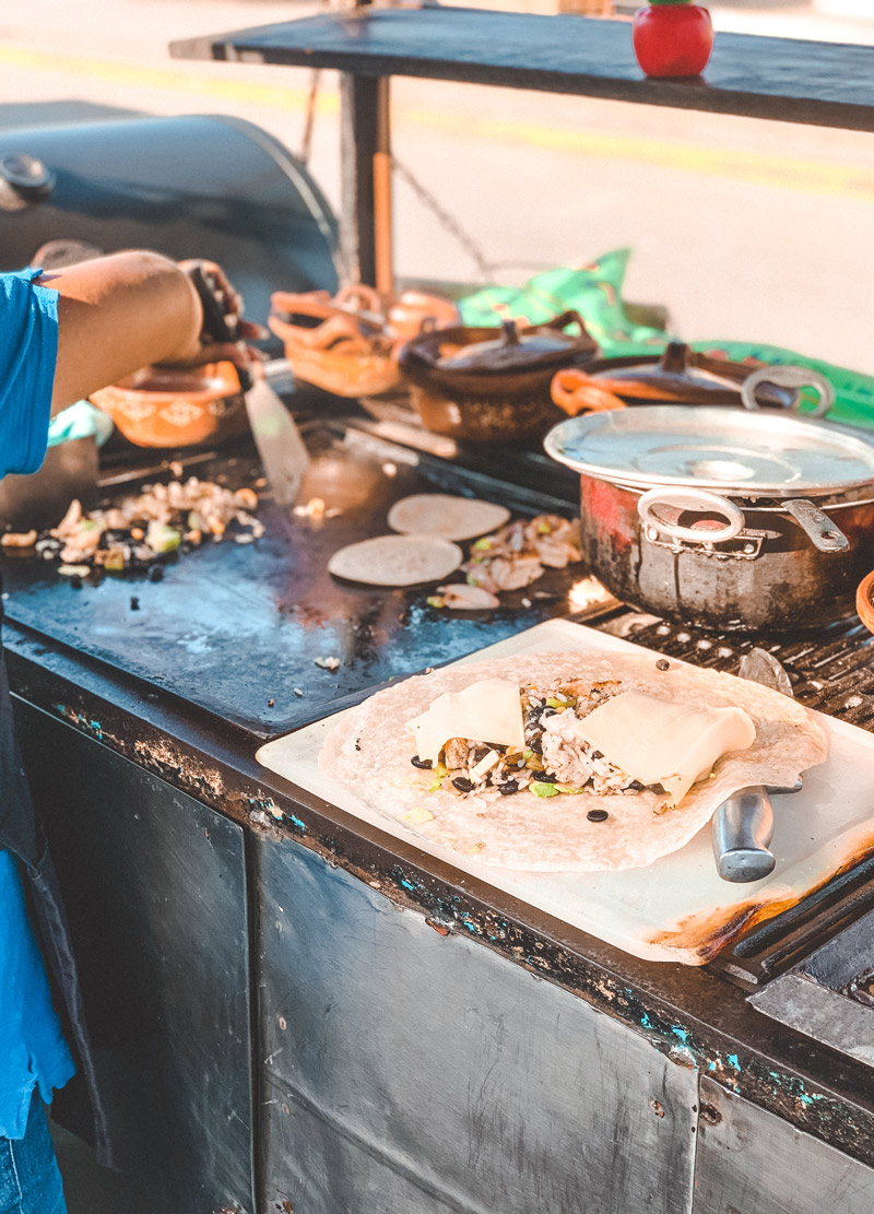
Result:
{"label": "orange clay bowl with pale pattern, beneath the cook's hand", "polygon": [[245,401],[233,363],[192,370],[144,367],[91,395],[137,447],[197,447],[225,442],[248,429]]}

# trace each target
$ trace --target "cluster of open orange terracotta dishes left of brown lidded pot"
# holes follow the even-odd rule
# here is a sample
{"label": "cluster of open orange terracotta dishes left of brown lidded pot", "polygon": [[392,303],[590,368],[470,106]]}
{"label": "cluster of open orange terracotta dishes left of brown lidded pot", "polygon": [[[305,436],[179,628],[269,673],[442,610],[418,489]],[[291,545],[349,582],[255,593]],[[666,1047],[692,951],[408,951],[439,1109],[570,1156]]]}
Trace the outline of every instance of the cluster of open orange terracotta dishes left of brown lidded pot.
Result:
{"label": "cluster of open orange terracotta dishes left of brown lidded pot", "polygon": [[397,352],[427,319],[458,319],[455,305],[437,295],[403,291],[380,295],[370,287],[346,287],[291,295],[276,291],[268,324],[282,339],[295,375],[336,396],[380,396],[401,374]]}

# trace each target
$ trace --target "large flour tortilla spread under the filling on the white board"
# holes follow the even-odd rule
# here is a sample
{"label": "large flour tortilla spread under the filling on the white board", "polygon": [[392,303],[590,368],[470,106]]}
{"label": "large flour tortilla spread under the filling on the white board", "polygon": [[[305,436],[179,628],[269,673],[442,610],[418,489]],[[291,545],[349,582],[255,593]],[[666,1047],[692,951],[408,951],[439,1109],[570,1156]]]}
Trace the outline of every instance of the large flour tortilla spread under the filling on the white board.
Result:
{"label": "large flour tortilla spread under the filling on the white board", "polygon": [[[824,761],[825,731],[789,697],[732,675],[677,663],[662,671],[656,662],[656,654],[524,654],[408,679],[346,714],[325,739],[319,767],[353,789],[370,809],[483,864],[520,872],[592,873],[646,868],[688,843],[738,789],[749,784],[791,787],[802,771]],[[460,691],[481,679],[511,679],[520,686],[537,687],[618,679],[623,691],[681,700],[692,708],[743,708],[755,722],[756,741],[749,750],[720,759],[714,778],[693,785],[680,805],[663,813],[653,812],[663,798],[651,792],[626,796],[562,794],[543,800],[528,790],[511,796],[496,789],[467,796],[442,789],[427,793],[432,777],[410,765],[414,744],[407,721],[443,692]],[[608,819],[589,822],[591,809],[607,810]],[[418,822],[422,810],[433,818]]]}

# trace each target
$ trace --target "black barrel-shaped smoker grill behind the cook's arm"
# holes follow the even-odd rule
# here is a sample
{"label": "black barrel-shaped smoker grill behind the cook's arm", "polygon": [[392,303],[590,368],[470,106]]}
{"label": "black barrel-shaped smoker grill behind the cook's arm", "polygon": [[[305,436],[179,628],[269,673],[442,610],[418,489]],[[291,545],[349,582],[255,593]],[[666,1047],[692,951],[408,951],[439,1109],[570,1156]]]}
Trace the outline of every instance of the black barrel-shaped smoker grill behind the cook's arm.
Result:
{"label": "black barrel-shaped smoker grill behind the cook's arm", "polygon": [[263,320],[273,290],[334,290],[336,221],[303,165],[237,118],[0,131],[0,270],[47,240],[211,257]]}

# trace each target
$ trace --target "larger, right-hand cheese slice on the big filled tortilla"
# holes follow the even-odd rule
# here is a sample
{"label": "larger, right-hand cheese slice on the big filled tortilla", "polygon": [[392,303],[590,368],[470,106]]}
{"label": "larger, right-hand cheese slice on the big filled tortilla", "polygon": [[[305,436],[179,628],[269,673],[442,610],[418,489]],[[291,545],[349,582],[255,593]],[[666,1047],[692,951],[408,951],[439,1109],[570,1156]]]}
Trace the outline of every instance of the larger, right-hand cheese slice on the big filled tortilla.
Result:
{"label": "larger, right-hand cheese slice on the big filled tortilla", "polygon": [[687,708],[635,691],[601,704],[574,733],[632,779],[662,784],[671,805],[706,779],[717,759],[747,750],[756,736],[742,708]]}

